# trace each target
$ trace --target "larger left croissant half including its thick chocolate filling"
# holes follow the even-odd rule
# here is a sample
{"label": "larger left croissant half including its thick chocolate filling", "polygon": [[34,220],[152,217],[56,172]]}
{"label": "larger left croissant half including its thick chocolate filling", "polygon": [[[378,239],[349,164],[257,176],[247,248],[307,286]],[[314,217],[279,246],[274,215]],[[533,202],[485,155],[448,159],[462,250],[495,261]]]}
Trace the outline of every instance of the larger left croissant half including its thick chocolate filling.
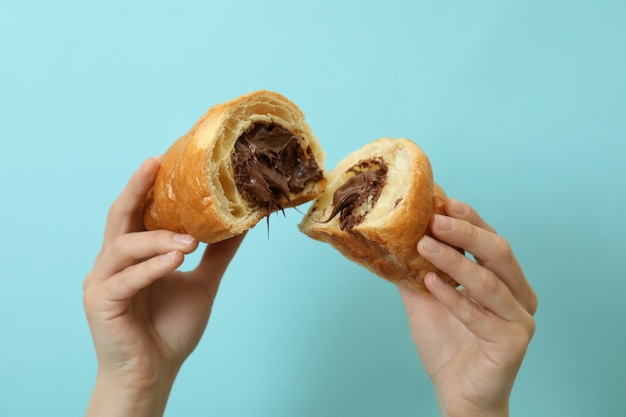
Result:
{"label": "larger left croissant half including its thick chocolate filling", "polygon": [[318,196],[324,153],[301,110],[271,91],[211,107],[165,153],[145,203],[148,230],[217,242]]}

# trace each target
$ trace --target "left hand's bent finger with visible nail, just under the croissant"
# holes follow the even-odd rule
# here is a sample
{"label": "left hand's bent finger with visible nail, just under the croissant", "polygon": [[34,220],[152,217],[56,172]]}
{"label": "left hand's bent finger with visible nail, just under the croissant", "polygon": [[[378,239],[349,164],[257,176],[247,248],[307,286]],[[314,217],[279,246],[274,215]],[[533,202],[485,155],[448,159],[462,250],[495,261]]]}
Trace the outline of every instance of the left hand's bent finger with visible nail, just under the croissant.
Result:
{"label": "left hand's bent finger with visible nail, just under the croissant", "polygon": [[126,233],[103,249],[91,278],[107,279],[142,260],[175,250],[187,254],[197,247],[198,241],[193,237],[167,230]]}

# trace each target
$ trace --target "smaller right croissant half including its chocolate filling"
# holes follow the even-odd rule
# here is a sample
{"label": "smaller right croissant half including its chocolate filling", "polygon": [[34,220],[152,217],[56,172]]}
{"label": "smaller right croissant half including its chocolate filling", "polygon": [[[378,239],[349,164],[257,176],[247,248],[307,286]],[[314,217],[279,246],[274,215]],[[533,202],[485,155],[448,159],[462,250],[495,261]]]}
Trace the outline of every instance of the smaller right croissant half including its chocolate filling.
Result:
{"label": "smaller right croissant half including its chocolate filling", "polygon": [[341,160],[299,225],[393,283],[423,290],[429,271],[454,281],[417,252],[445,193],[426,154],[408,139],[377,139]]}

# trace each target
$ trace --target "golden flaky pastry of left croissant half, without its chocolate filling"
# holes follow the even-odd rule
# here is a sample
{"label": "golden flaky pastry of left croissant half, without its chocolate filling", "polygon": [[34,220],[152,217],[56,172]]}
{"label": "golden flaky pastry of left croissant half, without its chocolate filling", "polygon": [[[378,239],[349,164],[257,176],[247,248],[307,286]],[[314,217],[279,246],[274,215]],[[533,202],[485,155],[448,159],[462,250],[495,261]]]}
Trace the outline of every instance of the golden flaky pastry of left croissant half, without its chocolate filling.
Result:
{"label": "golden flaky pastry of left croissant half, without its chocolate filling", "polygon": [[[144,204],[148,230],[189,233],[217,242],[253,227],[267,210],[250,207],[235,185],[231,153],[239,136],[254,123],[274,123],[303,139],[323,171],[324,153],[300,109],[271,91],[256,91],[213,106],[166,152]],[[310,201],[326,178],[285,198],[285,206]]]}

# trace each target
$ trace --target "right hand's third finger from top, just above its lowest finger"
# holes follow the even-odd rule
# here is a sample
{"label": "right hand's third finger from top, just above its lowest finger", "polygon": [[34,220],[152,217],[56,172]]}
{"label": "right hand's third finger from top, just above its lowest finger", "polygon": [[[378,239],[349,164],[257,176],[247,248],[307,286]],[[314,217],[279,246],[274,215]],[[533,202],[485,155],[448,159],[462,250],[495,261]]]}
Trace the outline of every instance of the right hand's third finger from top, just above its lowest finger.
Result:
{"label": "right hand's third finger from top, just above its lowest finger", "polygon": [[476,302],[505,320],[519,319],[522,306],[493,272],[429,236],[424,236],[417,247],[424,258],[462,285]]}

